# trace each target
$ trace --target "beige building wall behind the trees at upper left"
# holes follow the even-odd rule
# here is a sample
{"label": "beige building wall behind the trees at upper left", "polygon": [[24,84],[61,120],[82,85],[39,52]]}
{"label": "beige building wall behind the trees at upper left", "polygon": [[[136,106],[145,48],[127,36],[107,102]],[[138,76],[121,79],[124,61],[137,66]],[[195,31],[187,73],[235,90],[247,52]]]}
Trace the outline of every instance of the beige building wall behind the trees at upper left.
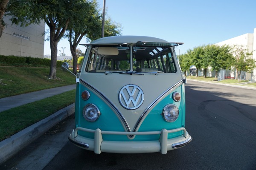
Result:
{"label": "beige building wall behind the trees at upper left", "polygon": [[6,28],[0,37],[0,55],[44,58],[45,23],[20,27],[5,17]]}

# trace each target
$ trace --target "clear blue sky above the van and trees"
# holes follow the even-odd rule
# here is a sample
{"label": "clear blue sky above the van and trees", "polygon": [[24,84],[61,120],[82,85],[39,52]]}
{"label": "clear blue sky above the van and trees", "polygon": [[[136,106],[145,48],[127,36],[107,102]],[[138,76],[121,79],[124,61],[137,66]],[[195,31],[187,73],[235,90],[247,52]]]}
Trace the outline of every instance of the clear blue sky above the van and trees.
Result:
{"label": "clear blue sky above the van and trees", "polygon": [[[103,0],[98,2],[103,8]],[[106,0],[106,10],[107,17],[122,25],[122,35],[184,42],[178,47],[180,54],[253,33],[256,28],[256,0]],[[49,41],[44,43],[44,55],[50,54]],[[58,51],[63,52],[61,47],[71,56],[67,40],[58,43]],[[83,46],[78,48],[85,51]]]}

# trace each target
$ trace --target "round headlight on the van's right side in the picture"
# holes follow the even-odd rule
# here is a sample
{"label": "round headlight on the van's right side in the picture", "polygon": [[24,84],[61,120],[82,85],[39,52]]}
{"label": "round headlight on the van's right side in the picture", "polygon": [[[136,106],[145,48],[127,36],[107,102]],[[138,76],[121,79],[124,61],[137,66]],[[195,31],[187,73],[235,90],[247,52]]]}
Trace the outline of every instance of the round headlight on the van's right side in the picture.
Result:
{"label": "round headlight on the van's right side in the picture", "polygon": [[162,116],[167,122],[174,122],[179,116],[179,109],[173,104],[166,105],[163,108]]}

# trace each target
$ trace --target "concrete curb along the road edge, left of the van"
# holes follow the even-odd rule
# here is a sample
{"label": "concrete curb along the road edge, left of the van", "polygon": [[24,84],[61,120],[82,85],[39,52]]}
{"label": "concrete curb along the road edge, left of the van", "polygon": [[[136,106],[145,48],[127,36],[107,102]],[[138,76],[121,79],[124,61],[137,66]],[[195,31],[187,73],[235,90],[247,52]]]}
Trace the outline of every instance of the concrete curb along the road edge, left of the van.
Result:
{"label": "concrete curb along the road edge, left of the van", "polygon": [[75,103],[0,142],[0,164],[75,112]]}

